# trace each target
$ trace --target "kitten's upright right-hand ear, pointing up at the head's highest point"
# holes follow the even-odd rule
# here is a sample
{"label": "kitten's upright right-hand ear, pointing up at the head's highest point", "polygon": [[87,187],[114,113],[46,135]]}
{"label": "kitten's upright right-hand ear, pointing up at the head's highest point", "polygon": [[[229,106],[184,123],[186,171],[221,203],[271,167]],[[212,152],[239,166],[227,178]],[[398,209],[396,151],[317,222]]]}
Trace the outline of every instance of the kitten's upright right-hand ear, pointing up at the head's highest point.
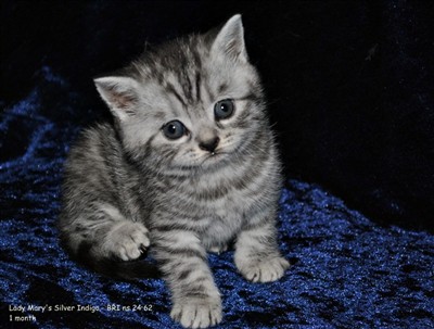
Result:
{"label": "kitten's upright right-hand ear, pointing up at the head's highest point", "polygon": [[212,53],[224,53],[232,60],[247,62],[244,45],[244,28],[241,15],[232,16],[218,33],[212,46]]}

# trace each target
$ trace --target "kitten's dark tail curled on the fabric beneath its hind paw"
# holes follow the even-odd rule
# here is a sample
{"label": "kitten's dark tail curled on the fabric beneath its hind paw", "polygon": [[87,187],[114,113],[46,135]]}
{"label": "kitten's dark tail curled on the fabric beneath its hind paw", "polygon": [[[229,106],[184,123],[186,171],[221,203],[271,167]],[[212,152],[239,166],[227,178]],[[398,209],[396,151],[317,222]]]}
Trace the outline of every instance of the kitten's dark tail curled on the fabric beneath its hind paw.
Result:
{"label": "kitten's dark tail curled on the fabric beneath its hind paw", "polygon": [[90,244],[82,242],[73,257],[78,263],[105,277],[126,281],[162,277],[156,264],[151,263],[149,260],[143,260],[146,256],[145,254],[137,261],[129,262],[113,258],[98,260],[90,253]]}

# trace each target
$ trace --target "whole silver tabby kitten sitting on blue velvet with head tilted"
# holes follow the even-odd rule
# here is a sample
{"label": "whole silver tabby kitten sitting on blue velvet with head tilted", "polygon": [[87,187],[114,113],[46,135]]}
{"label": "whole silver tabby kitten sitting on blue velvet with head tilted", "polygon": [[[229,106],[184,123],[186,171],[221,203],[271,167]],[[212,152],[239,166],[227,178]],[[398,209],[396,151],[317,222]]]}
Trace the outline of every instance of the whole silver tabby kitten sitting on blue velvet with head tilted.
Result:
{"label": "whole silver tabby kitten sitting on blue velvet with head tilted", "polygon": [[241,16],[159,46],[95,85],[115,125],[86,130],[71,151],[64,243],[95,263],[136,260],[151,245],[171,317],[189,328],[218,324],[207,251],[234,240],[237,268],[255,282],[289,267],[275,228],[281,164]]}

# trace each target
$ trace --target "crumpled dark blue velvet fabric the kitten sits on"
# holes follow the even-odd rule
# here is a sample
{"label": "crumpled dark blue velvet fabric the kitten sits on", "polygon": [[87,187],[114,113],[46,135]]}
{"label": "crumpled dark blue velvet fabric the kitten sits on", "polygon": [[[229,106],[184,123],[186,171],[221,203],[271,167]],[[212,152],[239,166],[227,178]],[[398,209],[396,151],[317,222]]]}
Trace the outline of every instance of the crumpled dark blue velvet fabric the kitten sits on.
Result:
{"label": "crumpled dark blue velvet fabric the kitten sits on", "polygon": [[[60,248],[63,162],[94,115],[51,67],[42,67],[38,79],[1,114],[0,327],[180,328],[170,320],[163,280],[101,277]],[[293,266],[278,282],[244,280],[231,251],[209,255],[224,301],[219,328],[434,327],[434,236],[381,227],[299,180],[289,180],[282,192],[279,235]],[[79,312],[78,304],[99,311]],[[107,309],[113,304],[144,307]],[[31,305],[52,309],[28,311]],[[18,306],[27,309],[11,311]],[[15,321],[29,315],[30,321]]]}

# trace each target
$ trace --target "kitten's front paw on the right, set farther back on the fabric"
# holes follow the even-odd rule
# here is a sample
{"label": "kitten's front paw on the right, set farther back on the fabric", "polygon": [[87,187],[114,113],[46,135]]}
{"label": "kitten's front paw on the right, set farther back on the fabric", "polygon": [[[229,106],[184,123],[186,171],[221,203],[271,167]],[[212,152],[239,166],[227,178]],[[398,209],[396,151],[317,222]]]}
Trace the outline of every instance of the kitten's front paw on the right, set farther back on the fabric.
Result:
{"label": "kitten's front paw on the right, set farther back on the fabric", "polygon": [[280,279],[285,269],[290,267],[290,263],[283,257],[275,257],[270,260],[258,260],[250,262],[241,262],[237,264],[241,274],[253,282],[271,282]]}

